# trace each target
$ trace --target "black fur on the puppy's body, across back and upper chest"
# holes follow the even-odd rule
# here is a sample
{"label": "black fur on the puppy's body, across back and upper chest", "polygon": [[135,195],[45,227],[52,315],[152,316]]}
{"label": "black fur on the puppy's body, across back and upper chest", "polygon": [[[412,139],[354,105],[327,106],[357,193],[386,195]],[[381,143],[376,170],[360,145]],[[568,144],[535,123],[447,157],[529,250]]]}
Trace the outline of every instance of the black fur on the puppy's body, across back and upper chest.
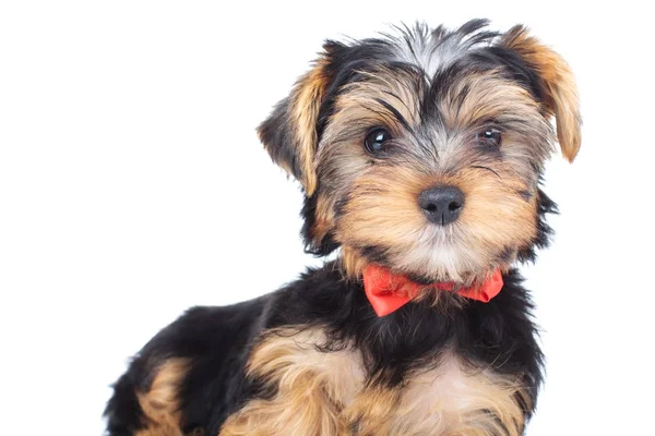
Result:
{"label": "black fur on the puppy's body, across back and upper chest", "polygon": [[[271,393],[260,380],[246,378],[243,368],[258,336],[279,326],[324,328],[329,341],[323,351],[352,343],[364,351],[370,382],[391,387],[403,383],[425,358],[438,358],[446,346],[456,344],[465,361],[521,375],[534,403],[543,355],[531,318],[533,306],[517,271],[503,279],[502,291],[489,303],[445,304],[448,311],[439,311],[417,302],[379,318],[361,284],[346,281],[337,265],[329,263],[260,299],[227,307],[194,307],[151,340],[116,384],[105,412],[109,435],[132,435],[141,427],[134,390],[147,391],[157,365],[170,358],[192,362],[179,392],[182,429],[218,434],[226,417],[247,400]],[[416,328],[419,325],[429,328]]]}

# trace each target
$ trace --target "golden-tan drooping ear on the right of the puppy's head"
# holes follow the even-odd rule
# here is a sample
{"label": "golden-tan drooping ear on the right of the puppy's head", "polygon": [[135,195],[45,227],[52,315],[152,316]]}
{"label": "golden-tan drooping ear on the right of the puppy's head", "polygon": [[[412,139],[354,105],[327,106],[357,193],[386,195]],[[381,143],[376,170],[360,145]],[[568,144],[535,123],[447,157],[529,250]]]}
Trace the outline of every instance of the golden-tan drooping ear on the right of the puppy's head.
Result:
{"label": "golden-tan drooping ear on the right of the puppy's head", "polygon": [[562,156],[572,162],[580,149],[582,119],[575,77],[569,64],[521,25],[508,31],[500,45],[516,52],[540,77],[545,110],[555,116]]}

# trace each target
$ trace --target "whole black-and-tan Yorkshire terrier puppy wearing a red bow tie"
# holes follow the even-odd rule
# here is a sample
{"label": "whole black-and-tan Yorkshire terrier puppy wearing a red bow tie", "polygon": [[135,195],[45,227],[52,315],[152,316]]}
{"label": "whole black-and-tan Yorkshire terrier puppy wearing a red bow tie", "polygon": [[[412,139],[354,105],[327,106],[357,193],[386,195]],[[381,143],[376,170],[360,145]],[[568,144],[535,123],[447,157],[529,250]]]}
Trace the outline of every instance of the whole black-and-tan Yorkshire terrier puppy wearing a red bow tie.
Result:
{"label": "whole black-and-tan Yorkshire terrier puppy wearing a red bow tie", "polygon": [[522,26],[326,41],[259,135],[302,184],[307,250],[336,259],[163,329],[108,434],[523,434],[543,354],[515,266],[548,242],[544,164],[580,130],[569,66]]}

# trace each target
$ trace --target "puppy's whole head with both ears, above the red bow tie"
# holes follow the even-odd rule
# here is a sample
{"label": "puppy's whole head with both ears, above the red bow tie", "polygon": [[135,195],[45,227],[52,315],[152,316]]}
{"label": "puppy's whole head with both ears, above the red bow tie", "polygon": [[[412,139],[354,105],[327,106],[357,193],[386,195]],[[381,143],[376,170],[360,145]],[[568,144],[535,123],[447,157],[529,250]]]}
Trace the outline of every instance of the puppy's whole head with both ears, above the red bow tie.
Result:
{"label": "puppy's whole head with both ears, above the red bow tie", "polygon": [[262,123],[302,183],[310,251],[341,247],[352,276],[466,283],[539,242],[544,162],[556,141],[569,160],[580,147],[574,80],[525,28],[485,26],[327,41]]}

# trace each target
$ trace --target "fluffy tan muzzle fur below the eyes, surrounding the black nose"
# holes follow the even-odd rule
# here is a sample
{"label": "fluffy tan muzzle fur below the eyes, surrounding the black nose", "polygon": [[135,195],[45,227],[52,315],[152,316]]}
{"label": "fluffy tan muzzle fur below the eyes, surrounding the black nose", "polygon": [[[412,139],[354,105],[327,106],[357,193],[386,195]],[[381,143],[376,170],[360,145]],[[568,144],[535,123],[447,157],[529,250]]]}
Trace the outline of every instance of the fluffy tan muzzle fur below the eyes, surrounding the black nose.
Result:
{"label": "fluffy tan muzzle fur below the eyes, surrounding the black nose", "polygon": [[[344,207],[335,238],[344,245],[348,275],[366,262],[357,246],[384,247],[397,272],[420,272],[436,280],[471,282],[495,265],[507,246],[526,246],[536,234],[536,201],[507,168],[496,173],[462,169],[454,175],[426,175],[408,167],[378,169],[358,179]],[[455,185],[465,194],[460,219],[448,228],[430,226],[417,204],[421,190]]]}

